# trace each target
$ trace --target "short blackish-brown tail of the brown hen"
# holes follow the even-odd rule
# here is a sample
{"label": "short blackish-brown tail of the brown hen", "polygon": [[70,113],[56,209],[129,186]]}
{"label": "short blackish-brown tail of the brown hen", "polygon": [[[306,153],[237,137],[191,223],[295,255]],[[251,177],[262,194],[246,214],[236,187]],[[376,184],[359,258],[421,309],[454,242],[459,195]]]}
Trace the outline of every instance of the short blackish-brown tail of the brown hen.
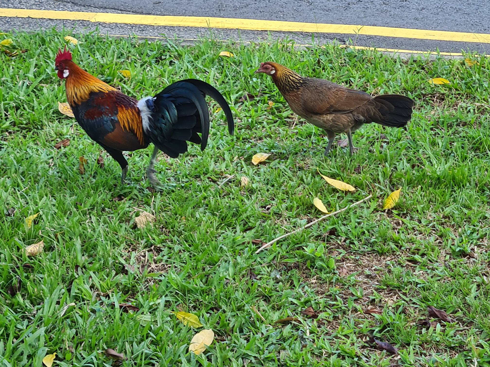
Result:
{"label": "short blackish-brown tail of the brown hen", "polygon": [[374,97],[376,108],[382,115],[378,124],[390,127],[403,127],[412,117],[414,100],[398,94],[385,94]]}

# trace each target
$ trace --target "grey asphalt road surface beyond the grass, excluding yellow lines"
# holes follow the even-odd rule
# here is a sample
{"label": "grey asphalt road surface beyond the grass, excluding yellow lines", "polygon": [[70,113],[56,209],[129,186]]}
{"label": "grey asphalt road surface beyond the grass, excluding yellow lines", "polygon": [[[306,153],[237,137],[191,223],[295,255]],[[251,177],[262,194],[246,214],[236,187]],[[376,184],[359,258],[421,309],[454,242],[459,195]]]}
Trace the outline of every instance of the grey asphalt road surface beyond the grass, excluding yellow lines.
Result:
{"label": "grey asphalt road surface beyond the grass, excluding yellow lines", "polygon": [[[280,20],[311,23],[378,25],[401,28],[446,30],[490,34],[490,7],[470,0],[0,0],[0,7],[24,9],[72,10],[85,12],[135,13],[151,15],[207,16]],[[132,24],[95,24],[90,22],[38,19],[0,18],[0,28],[33,30],[53,25],[76,30],[95,29],[101,33],[166,35],[178,38],[207,37],[210,32],[221,39],[240,40],[293,38],[299,43],[311,43],[311,34],[287,32],[240,31],[192,27],[163,27]],[[434,40],[414,40],[394,37],[317,34],[320,43],[349,39],[359,46],[395,49],[441,50],[446,52],[477,51],[490,54],[490,44]]]}

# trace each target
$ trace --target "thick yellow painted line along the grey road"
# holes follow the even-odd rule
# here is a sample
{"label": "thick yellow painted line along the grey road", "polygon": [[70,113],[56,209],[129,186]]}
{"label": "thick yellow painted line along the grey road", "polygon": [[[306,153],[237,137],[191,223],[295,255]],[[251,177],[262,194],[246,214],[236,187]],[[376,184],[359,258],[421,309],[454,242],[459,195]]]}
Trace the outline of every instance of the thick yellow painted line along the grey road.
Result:
{"label": "thick yellow painted line along the grey road", "polygon": [[161,15],[86,13],[77,11],[0,8],[0,17],[64,19],[100,23],[144,24],[175,27],[204,27],[261,31],[359,34],[456,42],[490,43],[490,34],[427,29],[378,27],[327,23],[264,21],[238,18],[175,17]]}

